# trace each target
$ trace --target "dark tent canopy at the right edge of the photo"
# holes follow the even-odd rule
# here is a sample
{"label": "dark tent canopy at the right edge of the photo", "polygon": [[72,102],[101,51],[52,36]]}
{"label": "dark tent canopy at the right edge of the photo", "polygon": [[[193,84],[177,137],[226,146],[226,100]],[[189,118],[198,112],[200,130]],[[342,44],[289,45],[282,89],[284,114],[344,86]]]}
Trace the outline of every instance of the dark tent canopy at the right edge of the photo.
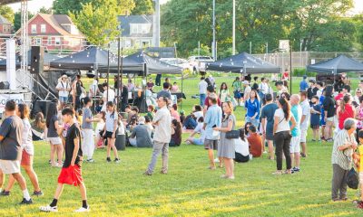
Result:
{"label": "dark tent canopy at the right edge of the photo", "polygon": [[345,55],[338,55],[338,57],[328,61],[319,61],[316,64],[308,65],[307,71],[335,74],[348,71],[363,71],[363,63]]}

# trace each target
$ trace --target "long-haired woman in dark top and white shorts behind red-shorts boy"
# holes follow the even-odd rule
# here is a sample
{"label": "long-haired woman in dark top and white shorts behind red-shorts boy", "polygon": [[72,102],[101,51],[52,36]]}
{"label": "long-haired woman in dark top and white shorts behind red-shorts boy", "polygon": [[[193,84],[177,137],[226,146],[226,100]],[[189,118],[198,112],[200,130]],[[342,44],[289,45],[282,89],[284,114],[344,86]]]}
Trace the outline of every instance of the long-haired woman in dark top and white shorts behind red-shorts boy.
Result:
{"label": "long-haired woman in dark top and white shorts behind red-shorts boy", "polygon": [[[47,139],[51,144],[51,164],[52,166],[62,167],[63,144],[58,132],[61,126],[58,124],[58,110],[55,103],[51,103],[46,114]],[[58,163],[55,163],[54,154],[57,154]]]}

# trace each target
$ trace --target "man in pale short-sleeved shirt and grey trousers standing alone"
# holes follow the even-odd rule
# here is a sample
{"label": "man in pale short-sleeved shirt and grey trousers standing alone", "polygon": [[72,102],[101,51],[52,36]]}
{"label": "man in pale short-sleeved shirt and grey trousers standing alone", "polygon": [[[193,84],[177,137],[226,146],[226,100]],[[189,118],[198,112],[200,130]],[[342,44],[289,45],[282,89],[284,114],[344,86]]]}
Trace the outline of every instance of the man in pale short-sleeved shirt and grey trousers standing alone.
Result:
{"label": "man in pale short-sleeved shirt and grey trousers standing alone", "polygon": [[152,146],[152,160],[143,173],[143,175],[152,175],[156,165],[158,156],[162,152],[162,171],[163,175],[168,174],[168,158],[169,158],[169,142],[172,138],[172,115],[169,112],[168,102],[166,97],[160,97],[158,100],[158,111],[152,119],[152,124],[155,126]]}

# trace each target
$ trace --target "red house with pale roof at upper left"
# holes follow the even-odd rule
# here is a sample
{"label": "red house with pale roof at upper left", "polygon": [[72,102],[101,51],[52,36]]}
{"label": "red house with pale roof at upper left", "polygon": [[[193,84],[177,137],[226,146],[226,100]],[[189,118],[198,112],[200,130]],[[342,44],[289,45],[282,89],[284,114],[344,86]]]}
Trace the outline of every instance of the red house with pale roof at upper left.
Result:
{"label": "red house with pale roof at upper left", "polygon": [[84,48],[85,37],[65,14],[35,14],[28,22],[28,34],[31,45],[44,46],[48,52],[79,52]]}

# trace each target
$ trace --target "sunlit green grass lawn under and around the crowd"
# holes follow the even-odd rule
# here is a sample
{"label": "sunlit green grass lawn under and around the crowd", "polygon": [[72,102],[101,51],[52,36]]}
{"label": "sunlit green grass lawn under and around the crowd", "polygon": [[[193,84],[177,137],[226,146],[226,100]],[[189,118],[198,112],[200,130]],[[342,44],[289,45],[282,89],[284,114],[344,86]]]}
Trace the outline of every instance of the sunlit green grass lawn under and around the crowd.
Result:
{"label": "sunlit green grass lawn under and around the crowd", "polygon": [[[218,85],[221,81],[231,85],[233,78],[216,80]],[[299,80],[293,79],[295,92]],[[198,91],[197,83],[198,79],[184,80],[188,99],[182,103],[182,109],[187,113],[191,105],[198,103],[198,99],[190,98]],[[244,111],[238,108],[235,114],[240,127],[244,124]],[[160,159],[152,176],[142,175],[152,149],[128,147],[120,152],[120,165],[106,163],[105,150],[96,150],[96,163],[83,164],[92,211],[74,214],[81,206],[80,195],[77,188],[65,186],[58,203],[59,212],[41,213],[38,207],[53,199],[60,169],[48,165],[50,147],[47,143],[34,145],[34,170],[44,196],[34,198],[32,205],[19,206],[16,203],[21,201],[22,193],[15,185],[11,197],[0,198],[0,216],[363,216],[351,200],[330,201],[332,144],[319,142],[308,143],[309,156],[302,158],[298,174],[271,175],[276,170],[276,162],[264,155],[247,164],[236,165],[236,179],[232,181],[220,178],[223,169],[207,169],[207,153],[201,146],[182,144],[170,148],[169,174],[158,173]],[[33,192],[27,177],[26,180],[28,189]],[[349,199],[356,199],[356,195],[357,191],[348,190]]]}

